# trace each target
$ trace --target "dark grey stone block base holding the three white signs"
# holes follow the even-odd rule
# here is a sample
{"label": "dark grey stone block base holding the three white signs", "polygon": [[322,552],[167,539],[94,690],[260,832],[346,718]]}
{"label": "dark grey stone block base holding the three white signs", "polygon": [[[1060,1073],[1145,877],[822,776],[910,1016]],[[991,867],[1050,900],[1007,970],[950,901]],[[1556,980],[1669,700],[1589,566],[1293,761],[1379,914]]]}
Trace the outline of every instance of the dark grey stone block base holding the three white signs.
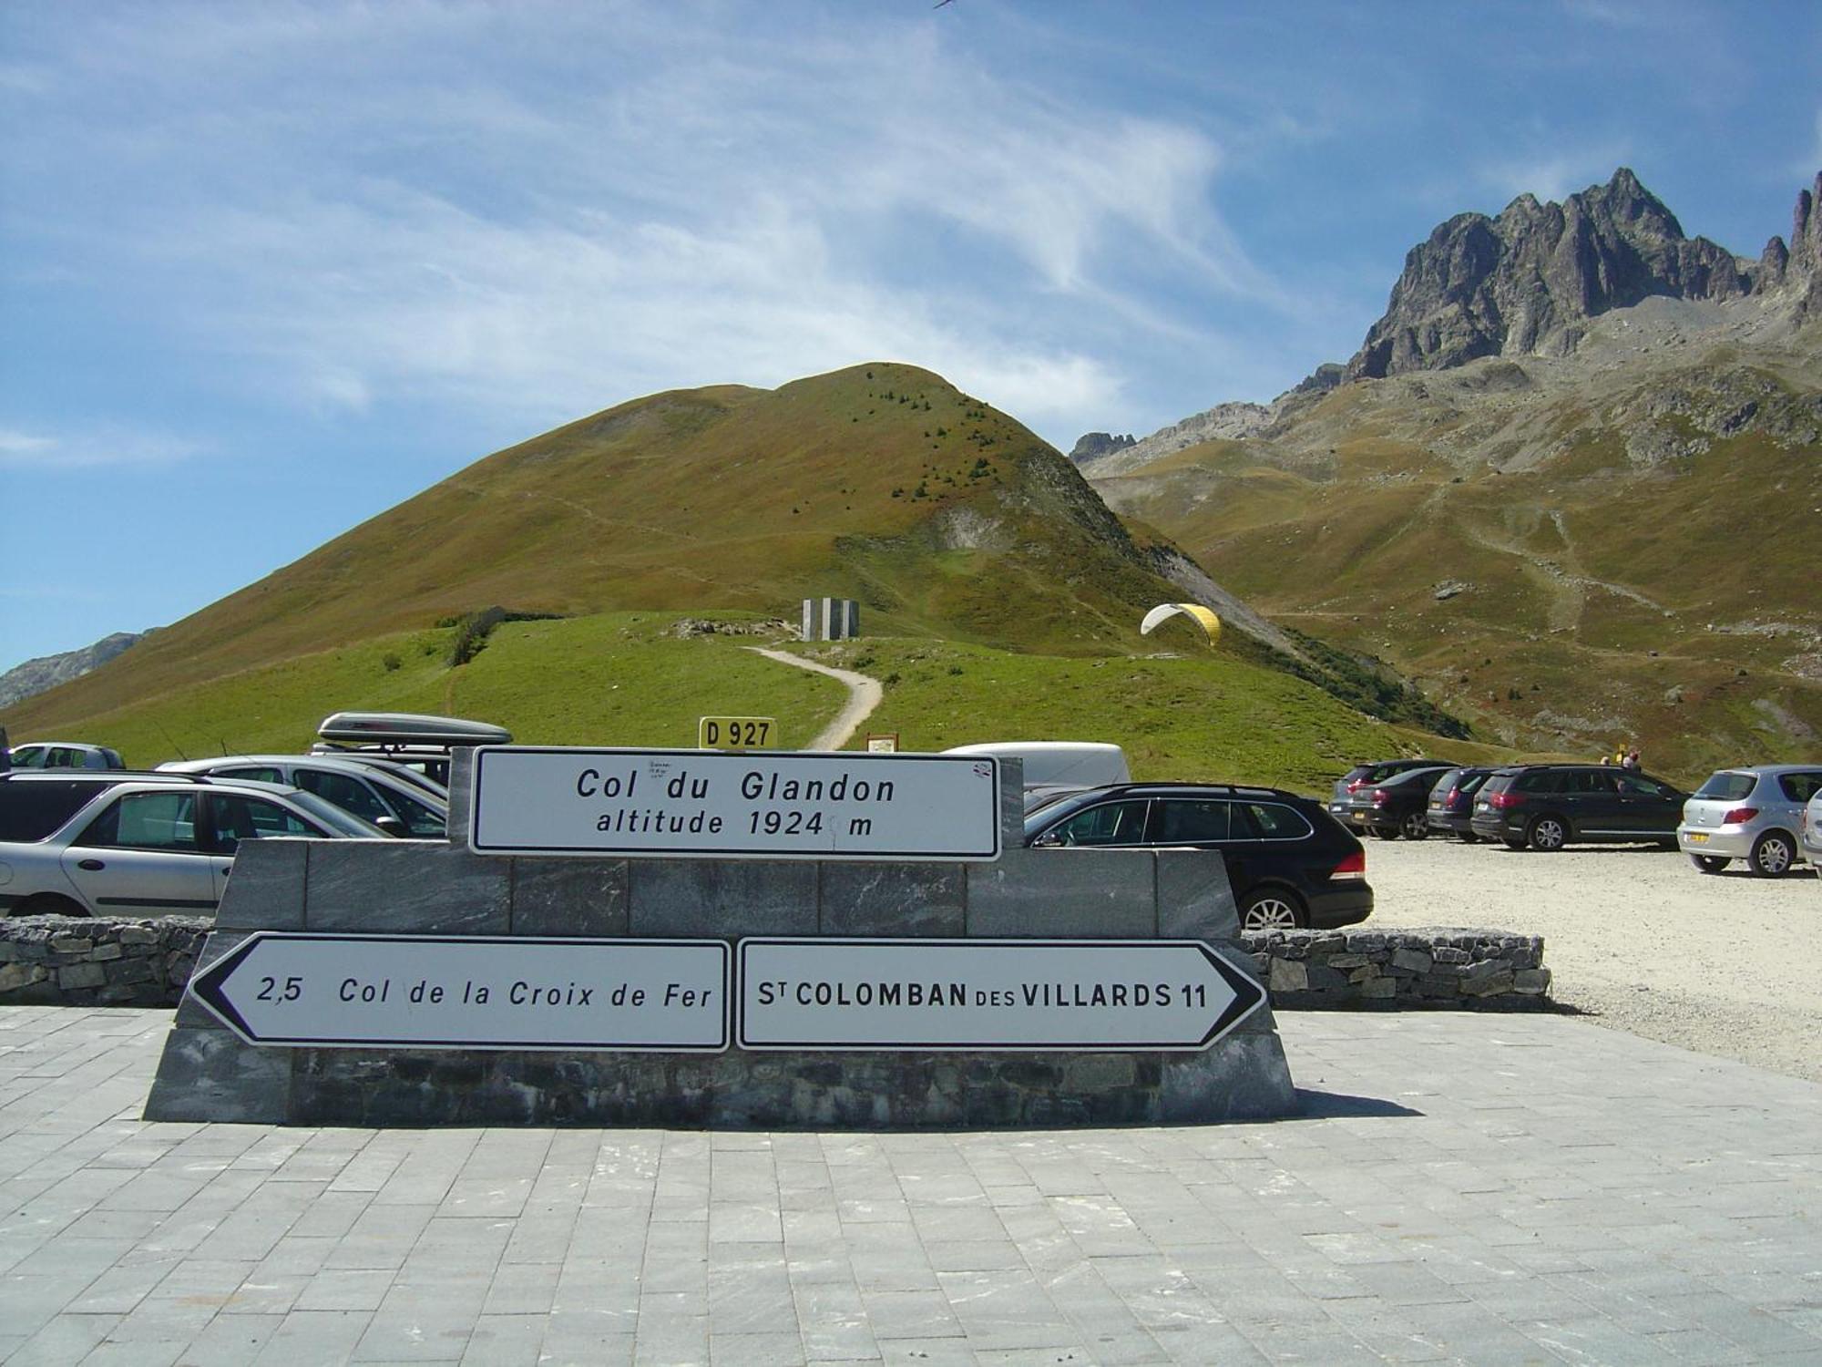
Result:
{"label": "dark grey stone block base holding the three white signs", "polygon": [[[1002,822],[1017,829],[1017,773]],[[505,937],[1195,939],[1248,973],[1203,851],[1024,849],[995,864],[479,857],[454,844],[259,840],[197,973],[261,930]],[[627,1054],[250,1044],[193,997],[149,1121],[689,1128],[1057,1126],[1295,1114],[1268,1004],[1201,1052]]]}

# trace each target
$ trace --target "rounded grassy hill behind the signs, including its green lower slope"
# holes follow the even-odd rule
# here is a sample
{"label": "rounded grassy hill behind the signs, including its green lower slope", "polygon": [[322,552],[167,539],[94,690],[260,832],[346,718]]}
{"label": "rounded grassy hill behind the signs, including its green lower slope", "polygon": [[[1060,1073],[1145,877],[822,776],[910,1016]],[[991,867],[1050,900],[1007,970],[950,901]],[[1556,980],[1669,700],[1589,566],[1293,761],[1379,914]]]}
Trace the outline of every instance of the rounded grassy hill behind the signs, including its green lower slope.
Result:
{"label": "rounded grassy hill behind the signs, including its green lower slope", "polygon": [[[1427,716],[1348,660],[1288,660],[1235,629],[1210,649],[1184,622],[1141,638],[1142,611],[1182,596],[1157,572],[1168,549],[1024,427],[913,366],[658,394],[477,461],[0,724],[133,764],[297,749],[348,707],[652,745],[692,744],[703,713],[767,714],[800,745],[836,684],[669,632],[836,594],[864,603],[858,654],[887,680],[873,729],[906,747],[1100,738],[1153,776],[1305,786],[1436,749],[1346,705]],[[550,616],[466,658],[459,623],[496,605]]]}

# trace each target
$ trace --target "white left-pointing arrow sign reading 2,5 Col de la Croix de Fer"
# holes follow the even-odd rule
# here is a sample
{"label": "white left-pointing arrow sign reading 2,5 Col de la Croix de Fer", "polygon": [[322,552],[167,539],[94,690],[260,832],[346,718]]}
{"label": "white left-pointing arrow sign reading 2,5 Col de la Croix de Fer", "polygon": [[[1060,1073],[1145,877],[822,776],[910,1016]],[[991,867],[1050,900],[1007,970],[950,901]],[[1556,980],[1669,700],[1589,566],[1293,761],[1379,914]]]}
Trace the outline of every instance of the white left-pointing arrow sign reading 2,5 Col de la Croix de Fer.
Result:
{"label": "white left-pointing arrow sign reading 2,5 Col de la Croix de Fer", "polygon": [[523,940],[261,931],[189,979],[253,1044],[727,1048],[720,940]]}

